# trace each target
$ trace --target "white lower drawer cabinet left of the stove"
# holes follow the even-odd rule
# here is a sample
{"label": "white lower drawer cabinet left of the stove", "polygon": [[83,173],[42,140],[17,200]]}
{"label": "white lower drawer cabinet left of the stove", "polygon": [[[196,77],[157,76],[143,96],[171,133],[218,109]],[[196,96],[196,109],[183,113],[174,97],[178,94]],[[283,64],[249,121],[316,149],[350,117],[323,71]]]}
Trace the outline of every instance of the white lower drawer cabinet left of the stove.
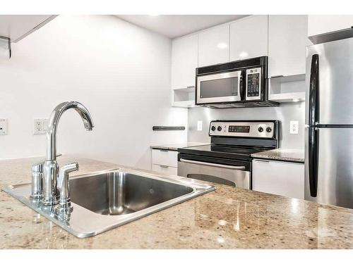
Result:
{"label": "white lower drawer cabinet left of the stove", "polygon": [[167,175],[178,174],[178,151],[152,149],[152,171]]}

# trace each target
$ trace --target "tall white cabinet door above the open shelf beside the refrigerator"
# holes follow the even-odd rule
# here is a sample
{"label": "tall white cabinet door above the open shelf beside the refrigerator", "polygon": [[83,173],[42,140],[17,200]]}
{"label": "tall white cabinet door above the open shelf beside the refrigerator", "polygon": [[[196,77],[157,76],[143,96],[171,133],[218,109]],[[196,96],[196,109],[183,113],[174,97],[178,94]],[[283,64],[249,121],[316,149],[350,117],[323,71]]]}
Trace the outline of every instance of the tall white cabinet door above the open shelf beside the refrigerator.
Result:
{"label": "tall white cabinet door above the open shelf beside the refrigerator", "polygon": [[307,29],[307,15],[269,16],[269,77],[305,74]]}

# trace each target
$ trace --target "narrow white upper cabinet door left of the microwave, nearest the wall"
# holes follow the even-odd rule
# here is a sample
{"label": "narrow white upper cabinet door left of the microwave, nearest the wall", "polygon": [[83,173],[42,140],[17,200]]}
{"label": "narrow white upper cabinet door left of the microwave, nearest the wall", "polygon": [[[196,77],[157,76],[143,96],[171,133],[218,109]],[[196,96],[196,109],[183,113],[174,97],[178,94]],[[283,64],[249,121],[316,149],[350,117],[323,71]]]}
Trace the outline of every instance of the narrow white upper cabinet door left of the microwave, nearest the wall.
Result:
{"label": "narrow white upper cabinet door left of the microwave, nearest the wall", "polygon": [[172,89],[195,86],[198,67],[198,35],[172,41]]}

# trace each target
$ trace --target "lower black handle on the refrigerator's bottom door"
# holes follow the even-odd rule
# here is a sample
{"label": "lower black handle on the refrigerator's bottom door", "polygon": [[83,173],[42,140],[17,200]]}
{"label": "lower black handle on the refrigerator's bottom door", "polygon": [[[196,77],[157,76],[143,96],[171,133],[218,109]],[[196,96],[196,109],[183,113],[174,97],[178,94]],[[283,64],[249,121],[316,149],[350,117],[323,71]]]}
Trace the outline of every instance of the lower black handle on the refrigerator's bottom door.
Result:
{"label": "lower black handle on the refrigerator's bottom door", "polygon": [[311,197],[318,194],[318,129],[309,127],[309,187]]}

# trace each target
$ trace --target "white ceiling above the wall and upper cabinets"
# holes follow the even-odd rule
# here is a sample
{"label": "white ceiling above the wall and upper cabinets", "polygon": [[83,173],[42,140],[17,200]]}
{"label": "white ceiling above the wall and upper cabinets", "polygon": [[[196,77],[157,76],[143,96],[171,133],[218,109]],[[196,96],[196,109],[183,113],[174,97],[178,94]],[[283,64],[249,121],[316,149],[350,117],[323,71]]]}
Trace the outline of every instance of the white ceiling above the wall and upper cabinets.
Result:
{"label": "white ceiling above the wall and upper cabinets", "polygon": [[181,37],[246,15],[116,15],[130,23],[163,34]]}

